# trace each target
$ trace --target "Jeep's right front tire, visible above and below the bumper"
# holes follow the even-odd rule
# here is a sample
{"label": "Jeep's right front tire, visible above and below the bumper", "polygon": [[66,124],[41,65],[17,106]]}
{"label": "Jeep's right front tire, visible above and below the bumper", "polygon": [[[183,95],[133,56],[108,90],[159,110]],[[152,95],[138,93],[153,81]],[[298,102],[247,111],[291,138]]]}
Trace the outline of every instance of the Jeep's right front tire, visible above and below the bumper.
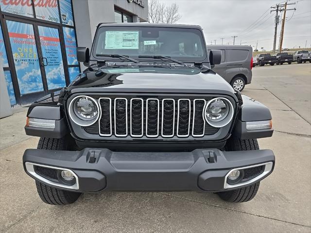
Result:
{"label": "Jeep's right front tire, visible above and below the bumper", "polygon": [[[226,145],[226,151],[241,151],[241,150],[259,150],[257,139],[239,139],[230,138]],[[219,192],[218,196],[228,202],[245,202],[252,200],[259,189],[260,182],[253,183],[249,186],[238,188],[231,191]]]}

